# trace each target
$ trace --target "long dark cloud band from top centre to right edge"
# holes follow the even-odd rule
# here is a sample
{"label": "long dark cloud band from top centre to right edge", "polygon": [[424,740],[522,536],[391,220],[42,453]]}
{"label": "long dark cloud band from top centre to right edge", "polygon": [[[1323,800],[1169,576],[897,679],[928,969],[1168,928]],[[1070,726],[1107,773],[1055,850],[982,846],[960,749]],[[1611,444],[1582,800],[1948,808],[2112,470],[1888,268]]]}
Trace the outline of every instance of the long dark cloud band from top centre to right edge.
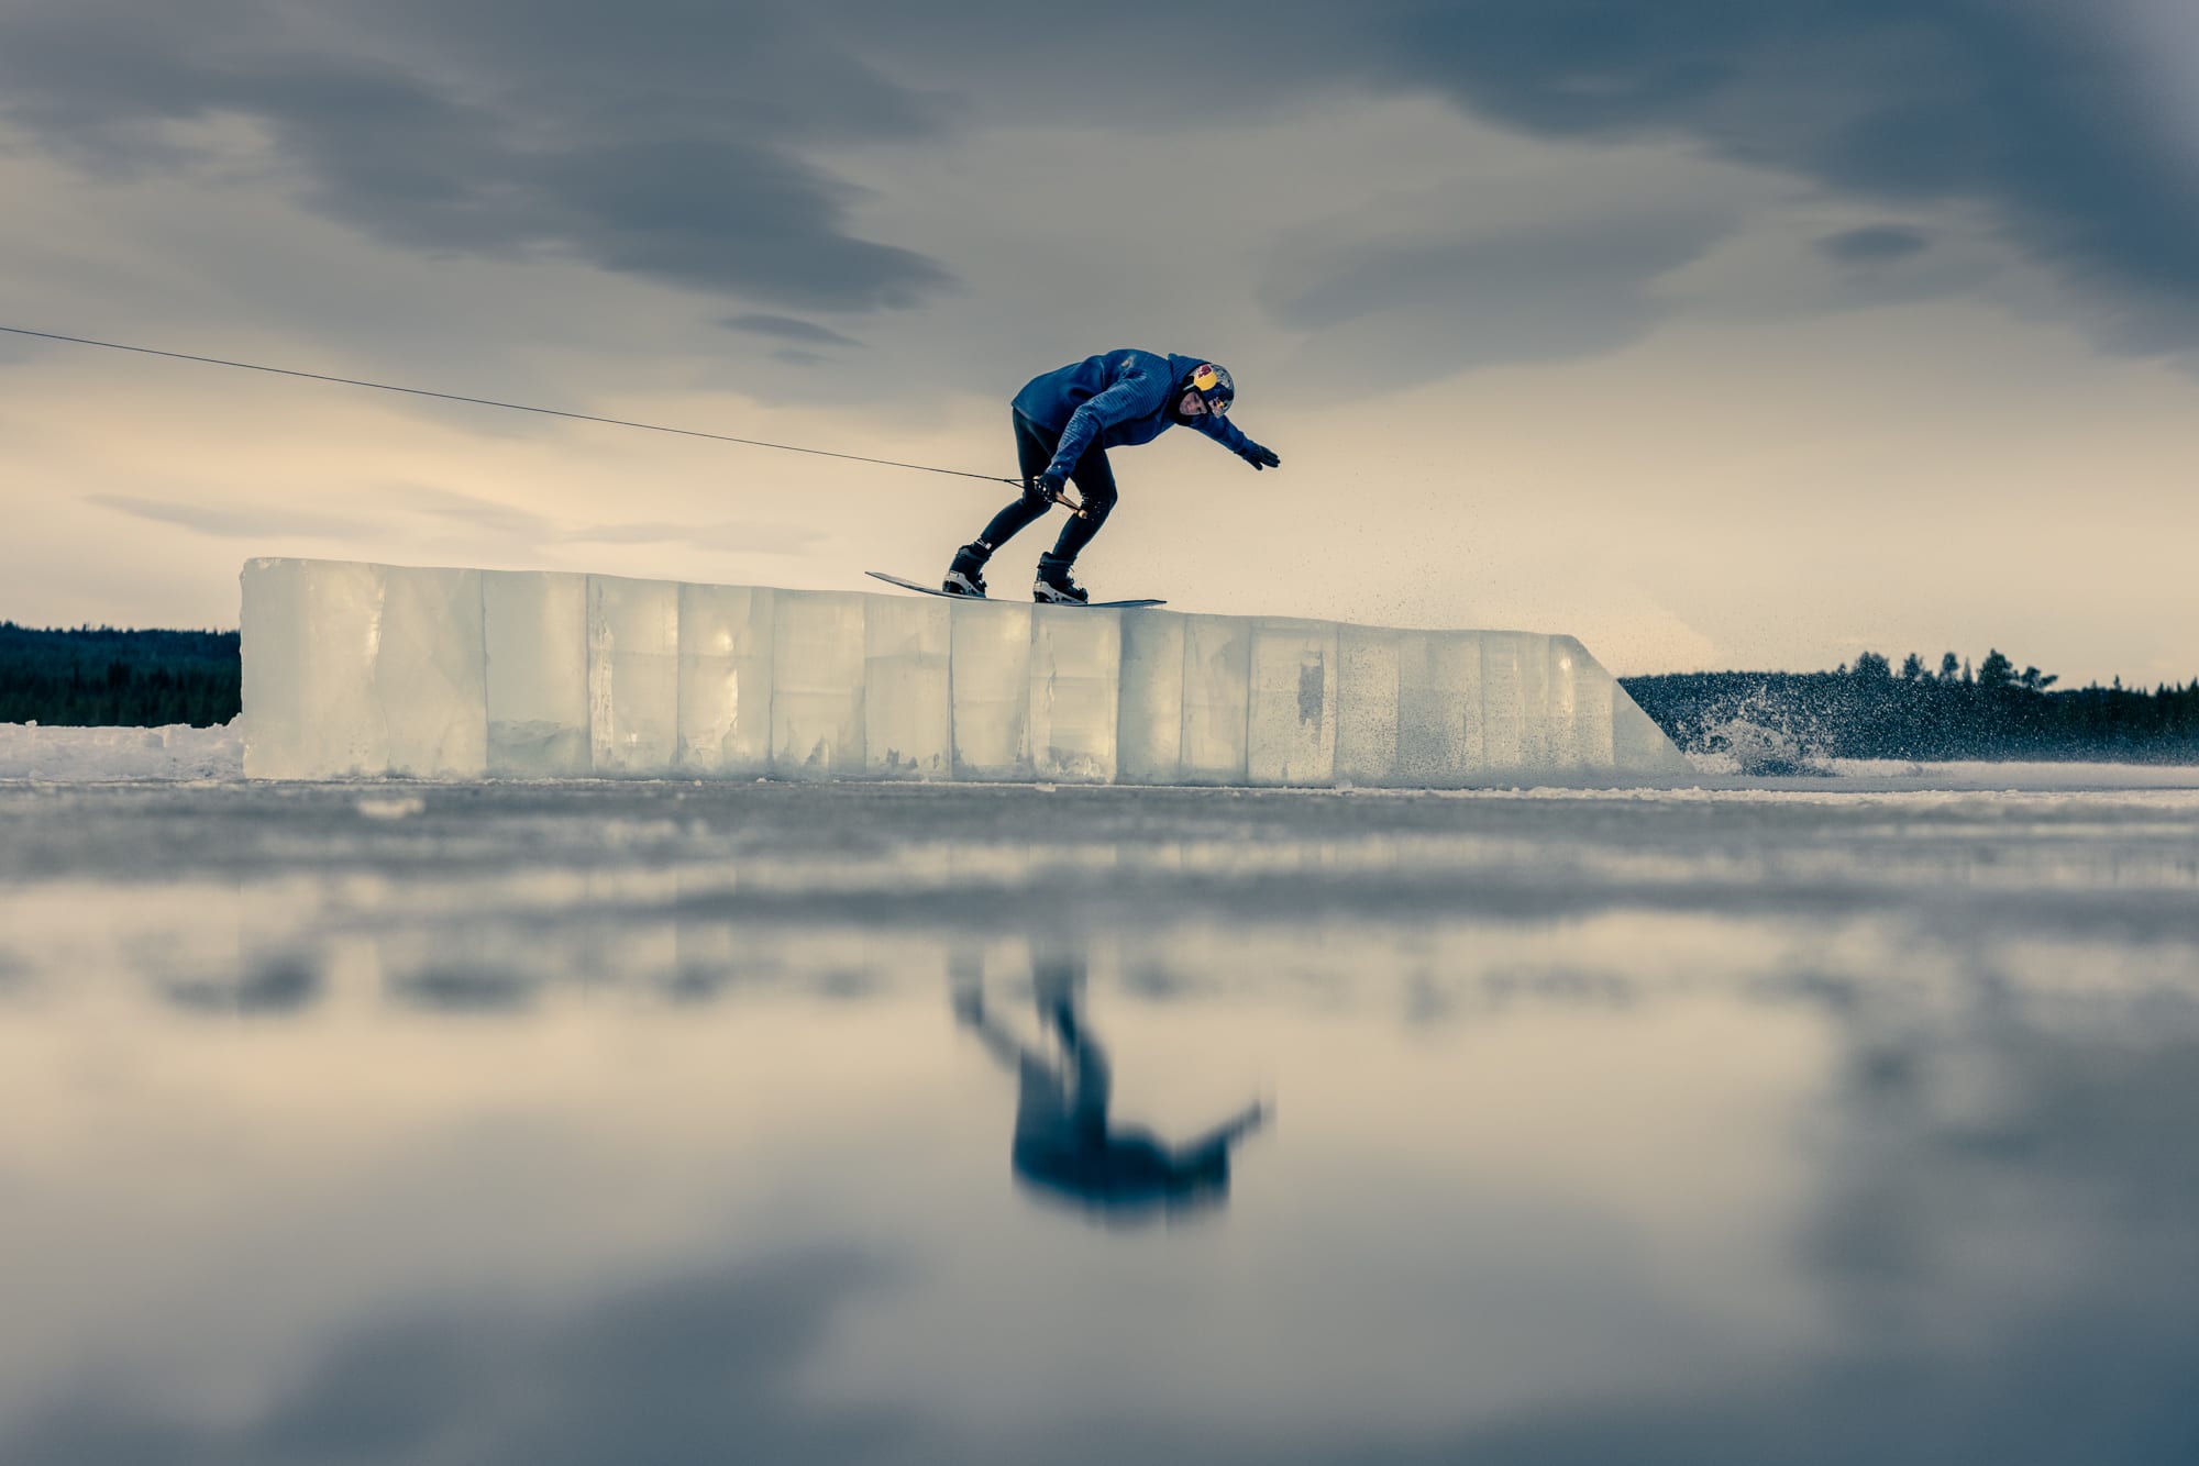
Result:
{"label": "long dark cloud band from top centre to right edge", "polygon": [[[1678,141],[1863,198],[1983,204],[2016,248],[2104,306],[2111,345],[2199,345],[2199,169],[2179,119],[2148,105],[2113,7],[1278,0],[1216,48],[1170,44],[1185,20],[1163,0],[1045,26],[1005,0],[957,7],[959,26],[880,0],[847,9],[939,75],[968,51],[1016,97],[1031,79],[1023,105],[1084,121],[1196,136],[1278,97],[1436,92],[1544,138]],[[1062,57],[1080,57],[1091,86],[1060,86]],[[2186,64],[2199,73],[2199,57]]]}

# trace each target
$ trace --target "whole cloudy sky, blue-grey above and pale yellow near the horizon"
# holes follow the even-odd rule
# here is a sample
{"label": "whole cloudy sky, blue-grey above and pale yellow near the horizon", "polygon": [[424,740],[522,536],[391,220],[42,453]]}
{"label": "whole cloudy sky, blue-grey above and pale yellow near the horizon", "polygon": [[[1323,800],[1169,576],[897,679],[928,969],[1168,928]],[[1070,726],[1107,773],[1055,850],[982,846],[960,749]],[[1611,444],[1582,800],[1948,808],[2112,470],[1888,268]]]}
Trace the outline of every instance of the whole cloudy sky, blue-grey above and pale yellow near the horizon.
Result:
{"label": "whole cloudy sky, blue-grey above and pale yellow near the horizon", "polygon": [[[1110,596],[2199,675],[2188,0],[0,0],[0,325],[976,473],[1223,360],[1284,468],[1117,453]],[[0,334],[26,624],[858,587],[1007,495]]]}

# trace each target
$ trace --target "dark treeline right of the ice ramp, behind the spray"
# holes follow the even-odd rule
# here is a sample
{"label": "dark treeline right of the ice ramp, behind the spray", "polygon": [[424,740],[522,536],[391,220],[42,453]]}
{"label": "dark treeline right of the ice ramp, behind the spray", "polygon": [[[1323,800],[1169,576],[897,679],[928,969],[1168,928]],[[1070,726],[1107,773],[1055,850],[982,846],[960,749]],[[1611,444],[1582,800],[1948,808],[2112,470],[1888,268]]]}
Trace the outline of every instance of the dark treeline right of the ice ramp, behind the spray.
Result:
{"label": "dark treeline right of the ice ramp, behind the spray", "polygon": [[[2111,758],[2199,763],[2199,677],[2151,692],[2056,688],[2036,666],[1992,651],[1970,670],[1955,653],[1937,670],[1909,655],[1900,670],[1863,653],[1834,673],[1682,673],[1625,677],[1627,692],[1687,749],[1783,749],[1812,758]],[[1770,741],[1766,741],[1770,734]]]}

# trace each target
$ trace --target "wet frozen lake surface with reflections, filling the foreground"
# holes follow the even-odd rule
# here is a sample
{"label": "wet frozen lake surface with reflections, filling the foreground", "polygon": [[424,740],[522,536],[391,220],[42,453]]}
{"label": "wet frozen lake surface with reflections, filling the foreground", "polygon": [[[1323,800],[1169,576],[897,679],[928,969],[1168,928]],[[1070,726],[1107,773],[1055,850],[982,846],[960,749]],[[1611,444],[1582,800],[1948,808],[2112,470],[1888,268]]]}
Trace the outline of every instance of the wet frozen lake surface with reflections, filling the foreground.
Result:
{"label": "wet frozen lake surface with reflections, filling the foreground", "polygon": [[0,1462],[2199,1459],[2199,771],[1994,778],[0,782]]}

